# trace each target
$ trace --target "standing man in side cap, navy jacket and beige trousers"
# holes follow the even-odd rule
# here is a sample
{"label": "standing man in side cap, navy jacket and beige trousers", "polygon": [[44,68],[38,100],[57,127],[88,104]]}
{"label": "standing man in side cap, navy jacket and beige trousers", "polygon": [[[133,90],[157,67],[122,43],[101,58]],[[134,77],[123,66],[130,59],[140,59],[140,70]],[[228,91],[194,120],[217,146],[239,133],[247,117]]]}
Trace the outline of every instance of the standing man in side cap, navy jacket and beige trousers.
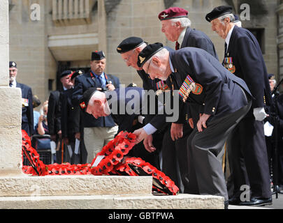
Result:
{"label": "standing man in side cap, navy jacket and beige trousers", "polygon": [[[113,91],[119,88],[119,79],[113,75],[106,75],[106,56],[102,51],[92,52],[91,70],[75,79],[73,90],[73,105],[79,105],[80,98],[87,89],[96,87],[101,91]],[[84,114],[84,139],[87,148],[87,162],[92,162],[96,153],[112,140],[117,133],[117,125],[111,116],[94,118]]]}

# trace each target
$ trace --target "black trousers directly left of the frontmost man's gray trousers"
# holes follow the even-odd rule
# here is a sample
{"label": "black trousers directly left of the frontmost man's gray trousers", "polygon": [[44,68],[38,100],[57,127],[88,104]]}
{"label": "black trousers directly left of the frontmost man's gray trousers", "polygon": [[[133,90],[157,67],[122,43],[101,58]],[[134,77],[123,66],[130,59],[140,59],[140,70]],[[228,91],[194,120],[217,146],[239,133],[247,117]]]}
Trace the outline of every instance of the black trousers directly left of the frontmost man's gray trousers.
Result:
{"label": "black trousers directly left of the frontmost man's gray trousers", "polygon": [[[178,175],[180,174],[184,185],[184,193],[187,193],[187,138],[193,130],[189,124],[183,125],[183,137],[173,141],[170,136],[170,128],[165,132],[162,147],[162,171],[174,181],[180,188]],[[177,169],[177,167],[179,167]]]}

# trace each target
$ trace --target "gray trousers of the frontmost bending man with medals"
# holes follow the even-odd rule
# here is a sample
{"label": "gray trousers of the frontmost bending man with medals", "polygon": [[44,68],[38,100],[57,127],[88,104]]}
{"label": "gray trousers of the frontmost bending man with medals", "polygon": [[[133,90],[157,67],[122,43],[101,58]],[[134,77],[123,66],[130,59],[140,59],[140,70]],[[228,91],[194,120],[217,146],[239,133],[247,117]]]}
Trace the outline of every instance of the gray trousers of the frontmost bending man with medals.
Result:
{"label": "gray trousers of the frontmost bending man with medals", "polygon": [[197,128],[191,132],[187,139],[189,193],[222,196],[228,201],[222,163],[217,155],[251,104],[249,101],[245,107],[226,116],[210,116],[203,132],[198,132]]}

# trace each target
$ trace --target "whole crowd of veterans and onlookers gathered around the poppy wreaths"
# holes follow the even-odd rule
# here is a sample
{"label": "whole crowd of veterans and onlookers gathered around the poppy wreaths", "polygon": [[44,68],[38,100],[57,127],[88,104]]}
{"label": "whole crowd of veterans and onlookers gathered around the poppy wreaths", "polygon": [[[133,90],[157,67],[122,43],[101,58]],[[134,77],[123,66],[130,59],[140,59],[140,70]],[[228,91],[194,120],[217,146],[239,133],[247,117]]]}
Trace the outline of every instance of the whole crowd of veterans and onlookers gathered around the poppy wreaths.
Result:
{"label": "whole crowd of veterans and onlookers gathered around the poppy wreaths", "polygon": [[[283,185],[283,95],[278,88],[273,91],[275,76],[268,75],[259,43],[241,27],[231,6],[216,7],[204,18],[224,40],[222,63],[212,40],[192,29],[187,15],[178,7],[158,15],[175,49],[134,36],[117,46],[126,66],[143,80],[143,88],[131,84],[126,91],[135,88],[141,102],[142,90],[179,90],[177,121],[168,123],[166,114],[141,110],[114,114],[110,107],[110,114],[101,112],[108,106],[108,93],[118,93],[121,83],[104,72],[106,55],[96,51],[88,72],[61,72],[63,91],[52,91],[43,105],[29,86],[15,81],[17,63],[10,62],[10,86],[22,89],[22,129],[29,136],[50,135],[56,162],[72,164],[91,163],[119,131],[133,132],[136,146],[129,155],[164,171],[181,192],[220,195],[225,207],[271,204],[270,183],[276,177],[276,184]],[[249,185],[252,194],[245,201],[242,185]]]}

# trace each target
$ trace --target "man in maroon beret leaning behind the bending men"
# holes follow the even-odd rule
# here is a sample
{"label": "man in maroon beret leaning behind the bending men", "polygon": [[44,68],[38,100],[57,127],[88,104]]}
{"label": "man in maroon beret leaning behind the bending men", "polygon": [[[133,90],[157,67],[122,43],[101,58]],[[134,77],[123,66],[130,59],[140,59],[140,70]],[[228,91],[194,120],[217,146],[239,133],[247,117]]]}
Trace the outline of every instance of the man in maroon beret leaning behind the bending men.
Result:
{"label": "man in maroon beret leaning behind the bending men", "polygon": [[[215,46],[213,45],[210,38],[203,33],[202,31],[198,31],[196,29],[191,29],[191,21],[188,18],[188,11],[184,8],[179,7],[171,7],[166,10],[163,10],[158,15],[159,20],[161,21],[161,31],[165,34],[166,38],[175,42],[175,49],[182,49],[184,47],[196,47],[200,49],[204,49],[206,52],[210,53],[212,56],[218,60],[217,52],[215,50]],[[186,148],[186,141],[189,134],[192,132],[194,125],[196,125],[196,121],[198,121],[198,105],[193,101],[186,103],[184,105],[181,104],[180,109],[183,109],[185,114],[185,123],[174,123],[175,128],[182,128],[183,137],[176,141],[179,146],[176,149],[170,150],[170,148],[166,148],[163,151],[164,157],[175,157],[175,151],[181,150],[182,148]],[[193,118],[194,117],[194,118]],[[192,120],[195,120],[193,123]],[[189,123],[189,125],[188,125]],[[168,139],[168,137],[166,137]],[[170,143],[169,141],[166,144]],[[180,171],[184,171],[184,157],[187,157],[185,151],[180,153],[178,160],[180,166]],[[168,160],[168,159],[167,159]],[[171,159],[170,159],[171,160]],[[170,161],[168,160],[168,161]],[[183,163],[183,164],[182,164]],[[168,164],[168,171],[172,170],[173,167]],[[182,174],[181,174],[182,175]],[[185,180],[183,178],[183,180]]]}

